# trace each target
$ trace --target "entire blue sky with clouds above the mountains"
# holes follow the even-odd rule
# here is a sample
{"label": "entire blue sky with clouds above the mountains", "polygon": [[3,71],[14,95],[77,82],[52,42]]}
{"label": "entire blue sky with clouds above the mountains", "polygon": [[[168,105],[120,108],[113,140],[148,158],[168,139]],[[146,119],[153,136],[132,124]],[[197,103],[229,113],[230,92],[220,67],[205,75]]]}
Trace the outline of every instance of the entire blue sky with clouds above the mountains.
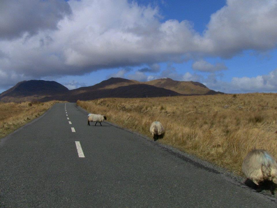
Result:
{"label": "entire blue sky with clouds above the mountains", "polygon": [[0,1],[0,93],[110,77],[277,92],[277,0]]}

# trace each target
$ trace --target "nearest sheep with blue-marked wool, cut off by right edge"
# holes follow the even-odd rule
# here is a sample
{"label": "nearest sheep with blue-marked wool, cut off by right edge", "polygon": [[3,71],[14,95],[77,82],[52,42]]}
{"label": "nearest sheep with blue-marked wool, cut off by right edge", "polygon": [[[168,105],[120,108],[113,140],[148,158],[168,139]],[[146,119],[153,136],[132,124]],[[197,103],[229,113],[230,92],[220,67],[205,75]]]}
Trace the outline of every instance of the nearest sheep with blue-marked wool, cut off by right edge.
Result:
{"label": "nearest sheep with blue-marked wool, cut off by right edge", "polygon": [[[248,153],[242,162],[242,172],[258,187],[263,181],[272,181],[277,184],[277,163],[274,157],[266,150],[254,149]],[[271,192],[274,190],[271,186]]]}

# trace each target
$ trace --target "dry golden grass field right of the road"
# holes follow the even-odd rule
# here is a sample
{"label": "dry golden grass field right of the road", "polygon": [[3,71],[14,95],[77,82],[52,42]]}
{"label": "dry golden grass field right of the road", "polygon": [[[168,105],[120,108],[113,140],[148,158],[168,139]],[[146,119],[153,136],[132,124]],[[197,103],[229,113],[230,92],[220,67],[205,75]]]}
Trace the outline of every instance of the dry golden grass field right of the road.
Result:
{"label": "dry golden grass field right of the road", "polygon": [[108,98],[77,104],[149,137],[151,122],[158,120],[166,134],[157,142],[236,174],[242,174],[242,160],[253,148],[266,149],[277,158],[277,94]]}

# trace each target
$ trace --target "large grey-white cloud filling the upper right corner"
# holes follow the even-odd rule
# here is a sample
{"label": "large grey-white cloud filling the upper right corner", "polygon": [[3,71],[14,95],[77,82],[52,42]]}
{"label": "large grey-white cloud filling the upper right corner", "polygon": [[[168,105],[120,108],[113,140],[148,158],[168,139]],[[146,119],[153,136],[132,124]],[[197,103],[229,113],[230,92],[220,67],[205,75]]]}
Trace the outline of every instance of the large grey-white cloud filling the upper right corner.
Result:
{"label": "large grey-white cloud filling the upper right corner", "polygon": [[244,50],[265,51],[277,43],[276,0],[227,0],[227,5],[211,15],[204,39],[210,53],[232,57]]}

